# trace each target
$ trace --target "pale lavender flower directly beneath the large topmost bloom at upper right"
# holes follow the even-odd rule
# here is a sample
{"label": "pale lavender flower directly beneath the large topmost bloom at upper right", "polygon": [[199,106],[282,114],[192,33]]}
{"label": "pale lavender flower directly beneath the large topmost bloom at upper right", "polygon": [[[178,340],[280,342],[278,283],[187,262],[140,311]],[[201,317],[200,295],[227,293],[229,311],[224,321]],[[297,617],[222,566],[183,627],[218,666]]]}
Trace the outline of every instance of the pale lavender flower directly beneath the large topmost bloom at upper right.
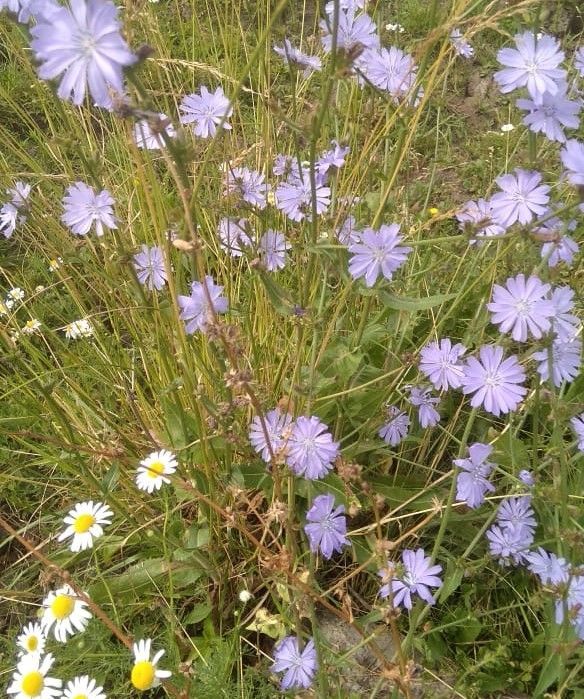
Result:
{"label": "pale lavender flower directly beneath the large topmost bloom at upper right", "polygon": [[558,84],[558,92],[555,95],[545,92],[537,102],[518,99],[516,104],[519,109],[527,112],[523,117],[525,126],[533,133],[543,133],[550,141],[564,143],[564,128],[577,129],[580,123],[578,114],[582,105],[578,101],[568,99],[565,82]]}

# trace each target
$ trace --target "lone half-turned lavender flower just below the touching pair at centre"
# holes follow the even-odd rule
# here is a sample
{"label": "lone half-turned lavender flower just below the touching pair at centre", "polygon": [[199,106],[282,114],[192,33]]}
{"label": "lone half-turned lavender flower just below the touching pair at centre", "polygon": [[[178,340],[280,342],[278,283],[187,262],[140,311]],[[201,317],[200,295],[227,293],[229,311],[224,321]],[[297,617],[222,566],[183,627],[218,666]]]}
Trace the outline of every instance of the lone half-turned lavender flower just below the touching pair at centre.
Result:
{"label": "lone half-turned lavender flower just below the touching pair at centre", "polygon": [[335,507],[335,497],[318,495],[312,501],[312,507],[306,513],[308,524],[304,531],[310,542],[313,553],[319,551],[328,560],[335,551],[341,551],[343,546],[349,546],[347,539],[347,518],[344,515],[344,505]]}

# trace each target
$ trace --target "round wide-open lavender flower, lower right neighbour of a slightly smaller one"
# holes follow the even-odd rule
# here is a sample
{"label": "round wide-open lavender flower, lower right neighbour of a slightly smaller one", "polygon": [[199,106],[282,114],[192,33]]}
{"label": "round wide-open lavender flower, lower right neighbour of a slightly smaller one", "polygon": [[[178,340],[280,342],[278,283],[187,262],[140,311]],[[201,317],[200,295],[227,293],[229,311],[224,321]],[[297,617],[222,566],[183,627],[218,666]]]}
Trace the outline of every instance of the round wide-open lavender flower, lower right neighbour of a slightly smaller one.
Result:
{"label": "round wide-open lavender flower, lower right neighbour of a slightly smaller one", "polygon": [[521,385],[525,372],[511,356],[503,359],[503,348],[498,345],[483,345],[479,359],[469,357],[464,366],[462,391],[465,395],[474,394],[471,406],[482,405],[495,416],[515,410],[527,389]]}

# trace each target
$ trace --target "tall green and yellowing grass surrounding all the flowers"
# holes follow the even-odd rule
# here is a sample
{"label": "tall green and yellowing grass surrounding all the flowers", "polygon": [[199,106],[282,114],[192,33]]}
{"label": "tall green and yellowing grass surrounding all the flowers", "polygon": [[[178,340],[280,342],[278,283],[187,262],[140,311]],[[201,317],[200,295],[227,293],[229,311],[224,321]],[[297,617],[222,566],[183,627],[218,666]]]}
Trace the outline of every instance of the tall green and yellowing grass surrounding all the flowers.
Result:
{"label": "tall green and yellowing grass surrounding all the flowers", "polygon": [[[339,668],[356,667],[357,649],[343,656],[319,638],[319,620],[331,608],[345,625],[354,617],[373,654],[365,620],[375,634],[401,638],[401,661],[386,653],[384,671],[371,670],[375,681],[362,696],[384,696],[376,683],[387,695],[384,677],[394,667],[404,676],[414,660],[425,669],[428,696],[438,696],[432,673],[458,692],[445,696],[584,696],[582,648],[568,628],[552,624],[550,595],[527,572],[497,565],[482,536],[500,498],[519,492],[519,470],[531,468],[537,541],[583,560],[582,459],[564,429],[582,411],[582,377],[560,392],[538,389],[531,363],[525,407],[508,418],[472,411],[456,393],[444,397],[432,431],[414,427],[396,449],[376,436],[384,406],[402,404],[416,381],[425,343],[448,336],[476,348],[497,340],[484,308],[493,283],[538,269],[576,289],[581,310],[581,268],[548,271],[539,245],[523,233],[469,246],[453,218],[514,167],[535,167],[557,182],[557,145],[538,137],[534,162],[514,100],[487,80],[509,36],[545,28],[546,3],[371,5],[380,27],[405,28],[382,29],[382,40],[412,51],[420,66],[424,96],[415,108],[359,89],[340,66],[303,80],[282,65],[272,45],[285,36],[318,48],[312,3],[206,0],[126,10],[129,43],[153,49],[130,76],[140,109],[174,117],[182,95],[200,84],[237,95],[231,131],[213,141],[183,133],[171,158],[138,150],[131,118],[59,102],[36,78],[25,33],[2,17],[2,184],[20,179],[34,191],[26,225],[0,239],[0,288],[26,292],[21,307],[0,317],[0,515],[28,542],[0,538],[0,681],[13,670],[20,627],[66,570],[121,635],[151,637],[166,649],[161,666],[173,670],[175,689],[152,696],[276,696],[268,670],[284,632],[316,636],[315,695],[347,696]],[[565,28],[577,22],[578,6],[554,9],[545,21],[571,49],[582,41]],[[476,58],[468,64],[449,49],[453,26],[472,36]],[[504,135],[500,126],[509,121],[516,129]],[[270,227],[285,232],[293,246],[286,269],[268,275],[227,257],[217,223],[243,214],[221,194],[220,166],[230,160],[269,172],[276,154],[307,160],[311,146],[318,153],[332,138],[351,150],[325,217],[299,225],[273,207],[249,211],[257,238]],[[61,198],[76,180],[112,192],[117,230],[81,239],[60,223]],[[575,201],[567,183],[554,192],[558,201]],[[353,195],[360,224],[399,222],[413,247],[407,267],[373,291],[351,283],[347,253],[333,236]],[[196,254],[169,240],[169,233],[189,240],[191,226],[201,242]],[[142,243],[162,246],[172,264],[159,295],[145,292],[132,272]],[[51,272],[57,257],[63,263]],[[237,334],[223,342],[187,336],[179,318],[176,295],[188,293],[201,269],[230,300],[225,327]],[[65,339],[64,326],[86,316],[95,336]],[[32,318],[42,332],[13,342],[10,334]],[[497,341],[522,357],[529,351]],[[249,380],[230,385],[232,369],[246,370]],[[329,425],[344,471],[309,483],[281,464],[266,470],[248,426],[255,408],[278,402]],[[471,511],[452,502],[452,459],[475,441],[494,445],[499,468],[497,492]],[[135,469],[163,447],[177,454],[179,473],[146,496],[135,487]],[[353,480],[350,464],[360,467]],[[333,492],[352,515],[352,547],[330,563],[309,553],[302,530],[307,506],[322,492]],[[56,535],[65,513],[87,499],[107,502],[115,518],[94,549],[73,555]],[[377,597],[376,571],[384,552],[397,559],[417,546],[433,550],[445,586],[436,607],[419,604],[394,618]],[[253,594],[245,605],[242,590]],[[57,676],[87,673],[108,696],[132,695],[131,656],[98,619],[52,650]]]}

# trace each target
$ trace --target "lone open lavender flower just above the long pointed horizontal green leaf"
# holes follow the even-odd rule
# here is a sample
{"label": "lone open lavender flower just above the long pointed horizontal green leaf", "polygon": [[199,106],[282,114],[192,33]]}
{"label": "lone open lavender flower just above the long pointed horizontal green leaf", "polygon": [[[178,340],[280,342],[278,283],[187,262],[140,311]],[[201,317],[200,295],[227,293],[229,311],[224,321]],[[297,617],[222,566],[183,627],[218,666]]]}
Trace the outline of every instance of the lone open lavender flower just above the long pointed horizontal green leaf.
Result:
{"label": "lone open lavender flower just above the long pointed horizontal green leaf", "polygon": [[349,273],[353,279],[365,278],[365,285],[371,287],[382,274],[391,281],[393,273],[406,261],[412,248],[403,247],[399,226],[381,226],[379,231],[365,228],[361,239],[349,245],[351,259]]}

